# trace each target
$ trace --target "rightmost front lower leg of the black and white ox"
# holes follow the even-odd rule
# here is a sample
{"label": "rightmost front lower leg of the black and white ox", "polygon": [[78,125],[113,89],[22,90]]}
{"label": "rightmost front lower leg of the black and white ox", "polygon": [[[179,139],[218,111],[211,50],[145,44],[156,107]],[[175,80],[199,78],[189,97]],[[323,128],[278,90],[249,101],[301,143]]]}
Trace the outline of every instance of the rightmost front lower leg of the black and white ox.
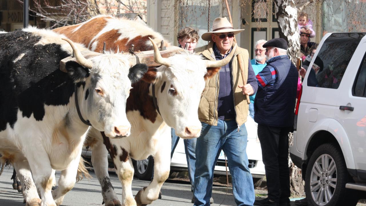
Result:
{"label": "rightmost front lower leg of the black and white ox", "polygon": [[61,171],[58,181],[59,185],[55,190],[52,191],[52,196],[56,205],[61,205],[66,193],[74,187],[76,183],[75,177],[78,172],[79,161],[79,158],[72,160],[68,168]]}

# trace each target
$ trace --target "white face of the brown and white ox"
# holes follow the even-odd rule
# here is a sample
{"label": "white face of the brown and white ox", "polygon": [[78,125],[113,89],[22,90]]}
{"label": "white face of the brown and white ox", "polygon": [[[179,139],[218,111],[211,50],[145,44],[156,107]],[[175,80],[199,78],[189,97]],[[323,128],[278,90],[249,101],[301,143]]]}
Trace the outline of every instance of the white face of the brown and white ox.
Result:
{"label": "white face of the brown and white ox", "polygon": [[156,94],[159,108],[164,108],[160,110],[161,116],[179,137],[197,137],[201,132],[197,110],[205,88],[205,62],[201,56],[186,51],[169,57],[168,61],[170,67],[157,69],[158,82],[170,85]]}

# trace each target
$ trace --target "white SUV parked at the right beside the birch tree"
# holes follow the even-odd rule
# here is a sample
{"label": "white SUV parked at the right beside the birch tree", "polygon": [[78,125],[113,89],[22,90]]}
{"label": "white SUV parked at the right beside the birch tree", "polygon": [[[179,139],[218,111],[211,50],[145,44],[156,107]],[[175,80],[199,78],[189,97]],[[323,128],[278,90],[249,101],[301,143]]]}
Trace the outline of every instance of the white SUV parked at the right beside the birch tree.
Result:
{"label": "white SUV parked at the right beside the birch tree", "polygon": [[356,205],[366,191],[366,33],[328,33],[295,111],[291,159],[308,202]]}

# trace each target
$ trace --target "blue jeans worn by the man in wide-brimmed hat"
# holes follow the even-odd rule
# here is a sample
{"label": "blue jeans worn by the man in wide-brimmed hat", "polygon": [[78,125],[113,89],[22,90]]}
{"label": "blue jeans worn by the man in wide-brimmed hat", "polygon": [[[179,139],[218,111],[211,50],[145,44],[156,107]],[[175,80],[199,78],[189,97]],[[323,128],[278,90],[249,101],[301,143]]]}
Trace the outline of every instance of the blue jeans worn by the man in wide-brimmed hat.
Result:
{"label": "blue jeans worn by the man in wide-brimmed hat", "polygon": [[228,158],[232,177],[235,203],[238,206],[253,206],[254,186],[248,167],[247,130],[245,125],[238,125],[235,119],[219,119],[217,126],[202,123],[201,136],[197,139],[196,171],[194,173],[195,206],[210,205],[212,195],[213,171],[223,150]]}

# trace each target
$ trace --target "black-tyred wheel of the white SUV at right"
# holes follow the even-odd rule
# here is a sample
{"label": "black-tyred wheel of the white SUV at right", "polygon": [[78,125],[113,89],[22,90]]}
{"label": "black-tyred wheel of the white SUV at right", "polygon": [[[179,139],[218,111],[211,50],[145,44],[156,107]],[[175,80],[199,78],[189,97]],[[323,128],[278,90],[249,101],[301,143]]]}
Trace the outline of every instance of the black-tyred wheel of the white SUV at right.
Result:
{"label": "black-tyred wheel of the white SUV at right", "polygon": [[346,189],[349,181],[351,178],[339,146],[322,144],[311,155],[306,169],[305,193],[309,205],[356,205],[358,199]]}

